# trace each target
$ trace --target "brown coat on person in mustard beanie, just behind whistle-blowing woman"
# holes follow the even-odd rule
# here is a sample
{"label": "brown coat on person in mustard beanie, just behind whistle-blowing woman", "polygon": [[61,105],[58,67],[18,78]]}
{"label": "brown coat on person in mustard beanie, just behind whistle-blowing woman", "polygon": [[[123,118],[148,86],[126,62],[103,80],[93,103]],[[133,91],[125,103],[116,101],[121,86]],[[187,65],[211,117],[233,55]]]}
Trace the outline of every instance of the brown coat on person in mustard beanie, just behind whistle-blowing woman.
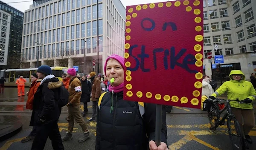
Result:
{"label": "brown coat on person in mustard beanie, just behind whistle-blowing woman", "polygon": [[100,87],[100,80],[96,76],[91,77],[92,81],[92,101],[99,100],[99,96],[102,94]]}

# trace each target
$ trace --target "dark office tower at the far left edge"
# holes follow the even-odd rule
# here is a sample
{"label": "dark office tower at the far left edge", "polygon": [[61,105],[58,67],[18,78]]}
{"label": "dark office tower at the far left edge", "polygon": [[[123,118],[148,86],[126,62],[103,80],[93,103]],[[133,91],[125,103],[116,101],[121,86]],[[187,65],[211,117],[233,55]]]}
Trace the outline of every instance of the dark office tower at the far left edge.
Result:
{"label": "dark office tower at the far left edge", "polygon": [[12,6],[9,6],[6,3],[3,3],[2,1],[0,1],[0,10],[8,13],[8,16],[11,15],[10,20],[7,22],[7,26],[10,26],[10,30],[6,32],[6,37],[8,36],[9,39],[6,40],[7,43],[5,43],[5,59],[7,61],[5,63],[5,66],[0,66],[0,69],[17,68],[19,67],[20,62],[22,61],[20,60],[20,51],[23,29],[23,12],[13,8]]}

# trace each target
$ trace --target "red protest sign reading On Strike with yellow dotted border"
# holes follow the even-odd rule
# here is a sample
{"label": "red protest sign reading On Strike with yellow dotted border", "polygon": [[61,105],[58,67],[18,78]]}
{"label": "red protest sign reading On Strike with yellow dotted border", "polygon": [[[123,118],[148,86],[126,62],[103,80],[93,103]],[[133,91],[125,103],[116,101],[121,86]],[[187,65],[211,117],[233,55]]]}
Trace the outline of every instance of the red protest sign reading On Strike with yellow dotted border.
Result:
{"label": "red protest sign reading On Strike with yellow dotted border", "polygon": [[127,6],[124,99],[201,107],[203,3]]}

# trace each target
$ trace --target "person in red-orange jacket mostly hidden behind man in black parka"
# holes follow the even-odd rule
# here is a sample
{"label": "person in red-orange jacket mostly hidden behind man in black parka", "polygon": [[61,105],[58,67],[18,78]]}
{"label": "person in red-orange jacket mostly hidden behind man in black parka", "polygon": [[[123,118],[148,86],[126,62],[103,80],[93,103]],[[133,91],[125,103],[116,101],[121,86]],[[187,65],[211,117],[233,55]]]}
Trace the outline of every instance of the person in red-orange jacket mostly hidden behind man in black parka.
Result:
{"label": "person in red-orange jacket mostly hidden behind man in black parka", "polygon": [[[31,80],[31,86],[29,88],[29,92],[27,93],[28,95],[28,100],[26,102],[26,109],[33,110],[33,102],[34,102],[34,95],[42,81],[42,79],[38,79],[38,76],[34,73],[30,76]],[[28,142],[31,139],[35,138],[35,133],[36,133],[36,126],[33,126],[32,131],[30,132],[29,136],[26,138],[22,139],[21,142]]]}

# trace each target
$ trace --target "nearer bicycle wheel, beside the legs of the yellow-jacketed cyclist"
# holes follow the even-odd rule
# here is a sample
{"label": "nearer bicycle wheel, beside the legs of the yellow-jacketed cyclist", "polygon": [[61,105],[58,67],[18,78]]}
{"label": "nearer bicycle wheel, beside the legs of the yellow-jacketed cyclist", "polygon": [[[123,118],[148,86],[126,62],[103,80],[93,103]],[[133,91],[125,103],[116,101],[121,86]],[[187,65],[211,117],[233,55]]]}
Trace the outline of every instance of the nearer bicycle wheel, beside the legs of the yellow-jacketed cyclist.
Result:
{"label": "nearer bicycle wheel, beside the legs of the yellow-jacketed cyclist", "polygon": [[244,136],[241,131],[239,122],[236,120],[235,117],[228,117],[227,128],[233,150],[245,150]]}

